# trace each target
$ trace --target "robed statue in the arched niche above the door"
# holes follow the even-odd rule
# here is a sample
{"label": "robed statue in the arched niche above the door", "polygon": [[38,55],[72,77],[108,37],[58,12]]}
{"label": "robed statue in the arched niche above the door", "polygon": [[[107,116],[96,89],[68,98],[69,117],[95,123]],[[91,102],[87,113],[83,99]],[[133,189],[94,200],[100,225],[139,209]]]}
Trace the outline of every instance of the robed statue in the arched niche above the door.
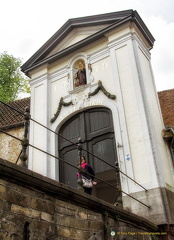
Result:
{"label": "robed statue in the arched niche above the door", "polygon": [[83,60],[78,60],[74,64],[76,73],[74,75],[74,86],[79,87],[87,83],[86,81],[86,69]]}

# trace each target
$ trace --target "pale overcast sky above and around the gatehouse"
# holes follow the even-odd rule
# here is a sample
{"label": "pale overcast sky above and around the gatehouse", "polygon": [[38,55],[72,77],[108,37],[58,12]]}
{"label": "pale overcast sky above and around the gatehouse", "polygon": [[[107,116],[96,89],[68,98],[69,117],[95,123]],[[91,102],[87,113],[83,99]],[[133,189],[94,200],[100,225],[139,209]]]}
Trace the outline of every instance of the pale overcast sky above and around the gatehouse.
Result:
{"label": "pale overcast sky above and around the gatehouse", "polygon": [[157,91],[174,88],[173,0],[0,0],[0,53],[25,62],[69,18],[137,10],[156,39],[151,50]]}

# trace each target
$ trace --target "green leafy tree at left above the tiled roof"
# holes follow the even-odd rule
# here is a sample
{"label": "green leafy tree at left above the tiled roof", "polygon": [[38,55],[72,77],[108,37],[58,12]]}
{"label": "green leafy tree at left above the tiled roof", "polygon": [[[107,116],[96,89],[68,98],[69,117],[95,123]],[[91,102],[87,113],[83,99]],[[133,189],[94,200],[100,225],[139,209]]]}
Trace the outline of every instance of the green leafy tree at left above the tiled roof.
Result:
{"label": "green leafy tree at left above the tiled roof", "polygon": [[20,93],[29,93],[28,78],[20,71],[22,62],[19,58],[0,54],[0,100],[14,101]]}

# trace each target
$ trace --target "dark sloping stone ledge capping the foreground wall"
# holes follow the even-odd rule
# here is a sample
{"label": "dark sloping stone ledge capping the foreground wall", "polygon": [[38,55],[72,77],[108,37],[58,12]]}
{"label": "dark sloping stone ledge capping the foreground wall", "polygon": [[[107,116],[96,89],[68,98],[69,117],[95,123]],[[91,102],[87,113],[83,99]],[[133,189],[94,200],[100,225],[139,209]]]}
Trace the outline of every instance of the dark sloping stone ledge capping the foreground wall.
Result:
{"label": "dark sloping stone ledge capping the foreground wall", "polygon": [[2,158],[0,158],[0,173],[0,178],[25,186],[26,188],[37,189],[48,195],[54,196],[55,198],[78,204],[78,206],[85,207],[98,213],[107,212],[113,217],[117,215],[120,219],[130,221],[139,227],[141,226],[148,229],[149,231],[158,231],[158,227],[155,224],[142,217],[130,213],[120,207],[113,206],[112,204],[94,196],[86,195],[77,189],[66,186],[63,183],[45,177],[29,169],[15,165]]}

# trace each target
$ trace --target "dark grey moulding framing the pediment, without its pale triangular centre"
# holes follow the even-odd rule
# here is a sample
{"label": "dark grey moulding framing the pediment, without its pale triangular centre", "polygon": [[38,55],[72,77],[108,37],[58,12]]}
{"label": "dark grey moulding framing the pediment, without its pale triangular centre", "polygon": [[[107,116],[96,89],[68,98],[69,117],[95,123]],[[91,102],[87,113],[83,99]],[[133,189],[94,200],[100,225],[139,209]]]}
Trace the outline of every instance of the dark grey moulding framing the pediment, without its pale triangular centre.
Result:
{"label": "dark grey moulding framing the pediment, without its pale triangular centre", "polygon": [[[141,30],[146,40],[152,47],[154,43],[154,38],[136,11],[127,10],[116,13],[76,18],[68,20],[26,63],[23,64],[21,69],[24,73],[28,74],[29,71],[39,67],[44,63],[50,64],[66,56],[67,54],[79,50],[80,48],[90,44],[91,42],[100,39],[108,31],[111,31],[112,29],[117,28],[129,21],[136,23],[136,25]],[[94,26],[101,24],[110,25],[98,31],[97,33],[92,34],[91,36],[67,47],[66,49],[63,49],[50,57],[46,57],[57,46],[57,44],[60,43],[65,38],[65,36],[67,36],[67,34],[69,34],[75,27]]]}

